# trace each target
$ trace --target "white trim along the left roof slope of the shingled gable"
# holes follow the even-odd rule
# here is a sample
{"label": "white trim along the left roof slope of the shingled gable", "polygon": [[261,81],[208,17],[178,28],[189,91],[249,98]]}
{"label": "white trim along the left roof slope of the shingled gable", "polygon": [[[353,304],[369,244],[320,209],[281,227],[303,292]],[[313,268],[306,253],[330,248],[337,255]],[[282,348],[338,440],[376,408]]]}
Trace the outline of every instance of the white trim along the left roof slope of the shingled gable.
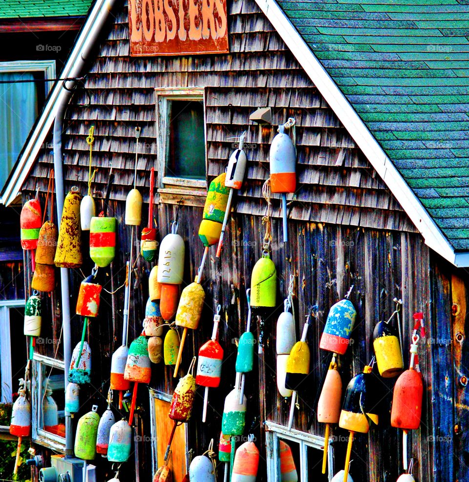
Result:
{"label": "white trim along the left roof slope of the shingled gable", "polygon": [[[89,13],[85,24],[80,32],[75,45],[68,57],[67,62],[60,74],[60,78],[78,77],[81,73],[84,61],[87,58],[94,42],[107,19],[107,15],[112,8],[115,0],[96,0],[91,12]],[[69,92],[67,92],[58,82],[44,106],[43,113],[39,118],[38,124],[29,138],[29,141],[24,148],[19,163],[15,169],[16,176],[12,176],[10,182],[5,186],[1,195],[0,203],[5,206],[10,205],[16,197],[18,197],[22,185],[29,175],[29,171],[38,157],[40,149],[43,147],[47,134],[52,127],[55,116],[64,102],[65,97],[68,99]]]}

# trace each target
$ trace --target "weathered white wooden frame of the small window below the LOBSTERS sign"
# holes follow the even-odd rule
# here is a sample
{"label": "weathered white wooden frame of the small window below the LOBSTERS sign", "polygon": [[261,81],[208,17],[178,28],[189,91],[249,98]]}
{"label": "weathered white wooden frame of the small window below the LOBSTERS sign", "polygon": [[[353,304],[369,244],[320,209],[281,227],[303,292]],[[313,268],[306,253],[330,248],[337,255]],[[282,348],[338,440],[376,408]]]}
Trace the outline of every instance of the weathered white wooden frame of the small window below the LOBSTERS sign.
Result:
{"label": "weathered white wooden frame of the small window below the LOBSTERS sign", "polygon": [[[158,159],[158,190],[165,192],[171,189],[178,193],[189,191],[192,195],[207,194],[207,123],[205,112],[205,89],[203,87],[161,87],[155,88],[156,96],[156,138]],[[205,145],[205,179],[187,179],[166,176],[169,138],[169,102],[171,101],[203,101],[204,106],[204,145]]]}

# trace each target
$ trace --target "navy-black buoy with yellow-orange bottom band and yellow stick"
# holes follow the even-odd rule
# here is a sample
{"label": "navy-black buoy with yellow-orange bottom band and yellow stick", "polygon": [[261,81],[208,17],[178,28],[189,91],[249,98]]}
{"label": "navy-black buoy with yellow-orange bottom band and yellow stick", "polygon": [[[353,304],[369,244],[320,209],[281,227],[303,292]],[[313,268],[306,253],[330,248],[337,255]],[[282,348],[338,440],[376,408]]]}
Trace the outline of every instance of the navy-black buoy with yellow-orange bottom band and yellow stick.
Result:
{"label": "navy-black buoy with yellow-orange bottom band and yellow stick", "polygon": [[345,468],[343,471],[343,482],[348,480],[348,468],[350,465],[350,454],[355,432],[367,434],[370,430],[370,420],[378,425],[378,414],[376,401],[376,386],[373,386],[371,367],[366,365],[363,373],[353,377],[345,391],[339,426],[350,432],[345,456]]}

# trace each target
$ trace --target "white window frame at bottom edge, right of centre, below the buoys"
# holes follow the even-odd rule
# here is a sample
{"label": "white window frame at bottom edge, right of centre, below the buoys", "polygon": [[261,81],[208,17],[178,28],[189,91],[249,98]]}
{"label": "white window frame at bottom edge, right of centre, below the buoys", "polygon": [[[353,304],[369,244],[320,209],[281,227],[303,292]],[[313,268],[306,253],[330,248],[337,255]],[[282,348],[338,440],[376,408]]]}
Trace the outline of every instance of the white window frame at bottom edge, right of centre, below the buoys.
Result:
{"label": "white window frame at bottom edge, right of centre, below the buoys", "polygon": [[[324,437],[317,435],[307,434],[300,432],[299,430],[288,430],[287,427],[279,425],[274,422],[265,422],[265,443],[267,453],[267,481],[268,482],[280,482],[280,454],[278,453],[278,440],[292,441],[299,443],[299,457],[300,457],[300,482],[308,482],[310,480],[308,476],[308,448],[319,450],[322,453],[324,447]],[[334,477],[334,454],[332,449],[332,443],[329,444],[327,454],[327,466],[328,466],[328,479],[332,480]],[[298,470],[298,467],[297,467]]]}

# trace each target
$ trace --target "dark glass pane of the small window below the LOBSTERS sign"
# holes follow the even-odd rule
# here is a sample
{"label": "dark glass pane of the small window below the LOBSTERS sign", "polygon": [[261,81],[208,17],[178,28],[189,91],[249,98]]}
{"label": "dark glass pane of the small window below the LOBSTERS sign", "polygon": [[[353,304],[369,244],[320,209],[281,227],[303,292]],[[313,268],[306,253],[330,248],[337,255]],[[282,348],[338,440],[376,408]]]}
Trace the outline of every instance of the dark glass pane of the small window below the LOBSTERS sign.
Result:
{"label": "dark glass pane of the small window below the LOBSTERS sign", "polygon": [[205,132],[202,101],[170,101],[166,176],[205,179]]}

